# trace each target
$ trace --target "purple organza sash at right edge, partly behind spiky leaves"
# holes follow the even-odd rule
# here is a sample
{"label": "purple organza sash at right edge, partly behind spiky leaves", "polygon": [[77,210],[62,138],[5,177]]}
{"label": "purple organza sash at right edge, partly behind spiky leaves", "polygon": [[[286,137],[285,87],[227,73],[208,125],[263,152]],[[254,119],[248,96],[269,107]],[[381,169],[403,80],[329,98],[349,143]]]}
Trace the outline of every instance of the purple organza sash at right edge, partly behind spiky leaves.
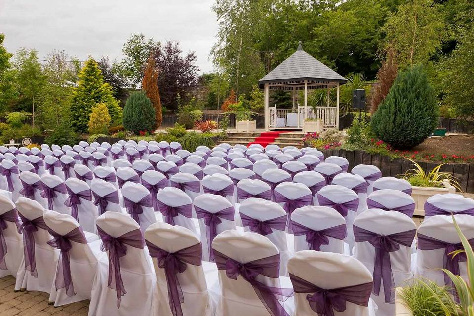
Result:
{"label": "purple organza sash at right edge, partly behind spiky leaves", "polygon": [[[443,256],[443,268],[451,271],[454,275],[459,276],[459,263],[467,261],[466,253],[460,252],[456,255],[451,254],[456,250],[464,250],[463,244],[460,243],[448,243],[433,237],[429,237],[423,234],[417,234],[417,246],[420,250],[435,250],[444,248]],[[471,247],[474,247],[474,238],[468,240]],[[450,285],[453,288],[454,284],[446,273],[444,274],[444,284]]]}

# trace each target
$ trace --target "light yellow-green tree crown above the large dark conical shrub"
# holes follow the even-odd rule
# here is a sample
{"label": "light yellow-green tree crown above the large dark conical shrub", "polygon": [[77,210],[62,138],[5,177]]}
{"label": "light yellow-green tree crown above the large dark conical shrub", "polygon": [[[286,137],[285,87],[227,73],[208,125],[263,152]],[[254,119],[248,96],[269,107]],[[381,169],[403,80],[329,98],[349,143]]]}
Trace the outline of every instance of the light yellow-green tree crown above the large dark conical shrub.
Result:
{"label": "light yellow-green tree crown above the large dark conical shrub", "polygon": [[400,5],[383,30],[384,49],[395,49],[400,66],[426,64],[447,35],[440,7],[432,0],[409,0]]}

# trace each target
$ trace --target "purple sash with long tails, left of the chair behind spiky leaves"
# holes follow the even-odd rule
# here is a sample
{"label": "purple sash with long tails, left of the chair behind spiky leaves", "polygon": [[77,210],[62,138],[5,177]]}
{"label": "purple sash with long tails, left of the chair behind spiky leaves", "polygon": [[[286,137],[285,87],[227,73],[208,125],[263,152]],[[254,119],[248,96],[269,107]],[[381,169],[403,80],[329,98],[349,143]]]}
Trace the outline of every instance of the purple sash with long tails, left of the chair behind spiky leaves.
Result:
{"label": "purple sash with long tails, left of the chair behind spiky leaves", "polygon": [[379,296],[382,280],[386,303],[395,303],[395,281],[390,263],[390,252],[400,249],[400,245],[410,247],[415,238],[416,229],[390,235],[379,235],[371,231],[354,227],[356,242],[368,241],[375,248],[374,256],[374,288],[372,293]]}

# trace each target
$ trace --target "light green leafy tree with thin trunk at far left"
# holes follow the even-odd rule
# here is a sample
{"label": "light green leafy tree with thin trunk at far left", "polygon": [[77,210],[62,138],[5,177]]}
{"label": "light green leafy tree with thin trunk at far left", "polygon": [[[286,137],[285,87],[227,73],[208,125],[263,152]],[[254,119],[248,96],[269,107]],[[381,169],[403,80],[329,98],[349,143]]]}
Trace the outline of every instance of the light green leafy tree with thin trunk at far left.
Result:
{"label": "light green leafy tree with thin trunk at far left", "polygon": [[17,109],[32,113],[33,128],[35,127],[35,98],[46,85],[46,77],[42,73],[38,60],[38,52],[34,49],[19,49],[15,54],[15,85],[20,94]]}

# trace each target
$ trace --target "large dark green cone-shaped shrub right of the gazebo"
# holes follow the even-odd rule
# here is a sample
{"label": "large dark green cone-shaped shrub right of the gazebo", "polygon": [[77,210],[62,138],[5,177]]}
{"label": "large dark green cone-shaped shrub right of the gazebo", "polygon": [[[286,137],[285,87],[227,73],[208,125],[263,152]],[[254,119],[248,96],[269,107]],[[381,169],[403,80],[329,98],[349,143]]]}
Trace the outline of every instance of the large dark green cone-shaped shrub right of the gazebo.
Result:
{"label": "large dark green cone-shaped shrub right of the gazebo", "polygon": [[397,149],[423,142],[438,124],[435,92],[420,66],[398,73],[389,94],[372,115],[372,130]]}

